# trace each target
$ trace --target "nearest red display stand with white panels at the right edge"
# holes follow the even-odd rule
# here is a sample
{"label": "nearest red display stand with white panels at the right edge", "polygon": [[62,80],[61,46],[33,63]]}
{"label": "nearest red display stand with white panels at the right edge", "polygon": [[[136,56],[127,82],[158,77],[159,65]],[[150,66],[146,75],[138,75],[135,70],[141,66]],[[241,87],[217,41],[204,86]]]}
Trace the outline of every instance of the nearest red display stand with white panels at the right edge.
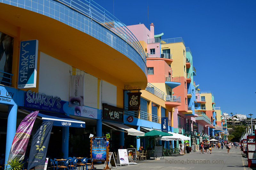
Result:
{"label": "nearest red display stand with white panels at the right edge", "polygon": [[248,157],[248,167],[256,167],[256,157],[255,157],[255,137],[247,136],[247,157]]}

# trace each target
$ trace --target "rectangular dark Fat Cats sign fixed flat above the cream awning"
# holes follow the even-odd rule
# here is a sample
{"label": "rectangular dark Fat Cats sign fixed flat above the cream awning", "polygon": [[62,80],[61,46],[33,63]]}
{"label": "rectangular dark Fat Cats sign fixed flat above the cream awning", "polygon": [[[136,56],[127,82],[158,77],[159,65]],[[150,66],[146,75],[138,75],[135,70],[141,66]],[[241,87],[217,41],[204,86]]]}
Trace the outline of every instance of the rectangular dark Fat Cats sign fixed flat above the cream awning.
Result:
{"label": "rectangular dark Fat Cats sign fixed flat above the cream awning", "polygon": [[124,109],[108,105],[106,103],[102,104],[102,119],[114,122],[124,122]]}

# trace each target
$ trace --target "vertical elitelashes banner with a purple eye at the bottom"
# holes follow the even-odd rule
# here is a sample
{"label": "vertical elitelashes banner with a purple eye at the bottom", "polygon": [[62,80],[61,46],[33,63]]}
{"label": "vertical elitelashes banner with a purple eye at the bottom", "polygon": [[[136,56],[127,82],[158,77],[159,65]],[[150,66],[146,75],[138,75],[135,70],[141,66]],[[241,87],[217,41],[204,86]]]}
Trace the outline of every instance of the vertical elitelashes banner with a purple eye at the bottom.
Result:
{"label": "vertical elitelashes banner with a purple eye at the bottom", "polygon": [[69,107],[84,106],[84,75],[70,76]]}

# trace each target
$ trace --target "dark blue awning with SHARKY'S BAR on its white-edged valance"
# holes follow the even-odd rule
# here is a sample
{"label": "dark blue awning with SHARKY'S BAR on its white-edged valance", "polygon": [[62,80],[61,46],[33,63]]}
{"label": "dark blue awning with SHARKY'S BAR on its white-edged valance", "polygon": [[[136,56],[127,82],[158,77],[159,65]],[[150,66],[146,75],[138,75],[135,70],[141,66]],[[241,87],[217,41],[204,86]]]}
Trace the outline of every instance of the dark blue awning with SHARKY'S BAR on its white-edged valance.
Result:
{"label": "dark blue awning with SHARKY'S BAR on its white-edged valance", "polygon": [[[34,112],[35,110],[29,108],[22,108],[28,112]],[[61,113],[51,113],[45,111],[39,111],[38,115],[42,117],[43,122],[53,121],[53,126],[62,126],[62,127],[75,127],[75,128],[85,128],[85,122],[79,121],[67,115]]]}

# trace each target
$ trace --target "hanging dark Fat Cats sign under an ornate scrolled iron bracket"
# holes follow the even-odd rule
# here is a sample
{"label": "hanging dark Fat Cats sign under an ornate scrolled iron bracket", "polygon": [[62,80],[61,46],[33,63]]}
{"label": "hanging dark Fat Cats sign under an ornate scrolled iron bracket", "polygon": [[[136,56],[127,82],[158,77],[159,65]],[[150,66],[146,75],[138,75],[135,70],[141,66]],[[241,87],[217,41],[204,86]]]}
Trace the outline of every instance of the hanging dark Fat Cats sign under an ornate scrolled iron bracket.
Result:
{"label": "hanging dark Fat Cats sign under an ornate scrolled iron bracket", "polygon": [[140,110],[140,95],[141,92],[127,93],[128,94],[128,109],[127,110]]}

